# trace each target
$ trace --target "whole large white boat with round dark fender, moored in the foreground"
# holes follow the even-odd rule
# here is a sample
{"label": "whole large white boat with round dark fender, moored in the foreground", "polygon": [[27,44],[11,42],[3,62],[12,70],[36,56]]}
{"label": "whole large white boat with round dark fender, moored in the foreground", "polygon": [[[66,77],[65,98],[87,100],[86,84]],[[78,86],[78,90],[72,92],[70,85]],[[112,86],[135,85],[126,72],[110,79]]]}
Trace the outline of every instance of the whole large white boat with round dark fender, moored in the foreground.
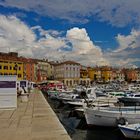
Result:
{"label": "whole large white boat with round dark fender, moored in the foreground", "polygon": [[84,107],[88,125],[111,126],[140,122],[140,107]]}

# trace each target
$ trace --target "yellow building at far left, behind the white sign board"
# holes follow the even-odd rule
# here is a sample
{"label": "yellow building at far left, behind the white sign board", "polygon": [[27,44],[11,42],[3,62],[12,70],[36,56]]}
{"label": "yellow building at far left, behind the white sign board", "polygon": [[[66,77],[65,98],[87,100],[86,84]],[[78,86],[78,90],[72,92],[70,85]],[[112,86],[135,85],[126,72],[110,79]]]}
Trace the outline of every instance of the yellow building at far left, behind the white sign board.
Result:
{"label": "yellow building at far left, behind the white sign board", "polygon": [[17,75],[17,80],[23,80],[23,74],[24,65],[19,58],[0,53],[0,75]]}

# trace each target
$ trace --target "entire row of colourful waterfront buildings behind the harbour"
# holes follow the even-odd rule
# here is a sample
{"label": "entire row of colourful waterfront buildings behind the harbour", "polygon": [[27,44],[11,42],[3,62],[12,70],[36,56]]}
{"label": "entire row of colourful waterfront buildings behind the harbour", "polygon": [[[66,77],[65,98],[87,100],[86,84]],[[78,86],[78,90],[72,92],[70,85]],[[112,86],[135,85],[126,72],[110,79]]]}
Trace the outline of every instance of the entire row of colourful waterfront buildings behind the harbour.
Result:
{"label": "entire row of colourful waterfront buildings behind the harbour", "polygon": [[74,61],[49,62],[48,60],[19,57],[16,52],[0,53],[0,75],[17,75],[18,80],[42,82],[60,80],[67,86],[89,85],[91,82],[140,81],[140,69],[85,67]]}

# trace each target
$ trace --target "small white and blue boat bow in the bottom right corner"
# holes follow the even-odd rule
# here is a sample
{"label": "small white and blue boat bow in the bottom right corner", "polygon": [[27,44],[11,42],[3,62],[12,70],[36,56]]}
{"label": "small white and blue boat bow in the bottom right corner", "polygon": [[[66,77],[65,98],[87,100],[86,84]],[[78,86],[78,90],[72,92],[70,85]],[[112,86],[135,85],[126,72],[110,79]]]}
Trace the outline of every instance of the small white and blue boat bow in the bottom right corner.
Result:
{"label": "small white and blue boat bow in the bottom right corner", "polygon": [[140,124],[118,125],[119,129],[126,138],[140,139]]}

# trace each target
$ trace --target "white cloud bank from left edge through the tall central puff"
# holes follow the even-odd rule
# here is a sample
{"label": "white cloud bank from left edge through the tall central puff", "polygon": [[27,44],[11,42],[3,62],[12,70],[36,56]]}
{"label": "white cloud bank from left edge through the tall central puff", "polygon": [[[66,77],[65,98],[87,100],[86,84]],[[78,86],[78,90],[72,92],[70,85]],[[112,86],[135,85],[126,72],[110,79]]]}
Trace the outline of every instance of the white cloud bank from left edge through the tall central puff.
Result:
{"label": "white cloud bank from left edge through the tall central puff", "polygon": [[84,28],[71,28],[62,36],[62,32],[44,30],[40,26],[28,27],[14,16],[0,15],[0,21],[1,51],[16,51],[19,55],[50,60],[65,58],[85,65],[108,63],[101,48],[94,45]]}

